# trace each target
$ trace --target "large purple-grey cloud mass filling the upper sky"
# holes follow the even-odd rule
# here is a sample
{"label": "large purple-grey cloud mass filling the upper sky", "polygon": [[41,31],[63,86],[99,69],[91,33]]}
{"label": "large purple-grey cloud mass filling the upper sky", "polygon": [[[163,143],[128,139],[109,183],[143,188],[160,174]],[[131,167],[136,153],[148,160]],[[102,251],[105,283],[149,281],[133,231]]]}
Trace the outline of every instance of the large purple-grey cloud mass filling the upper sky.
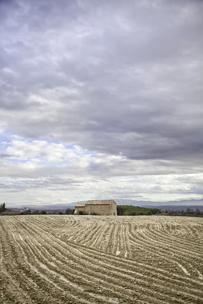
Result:
{"label": "large purple-grey cloud mass filling the upper sky", "polygon": [[[19,4],[5,21],[13,72],[4,71],[1,106],[20,111],[11,124],[20,135],[131,159],[202,153],[201,2]],[[45,90],[53,105],[27,102]]]}

